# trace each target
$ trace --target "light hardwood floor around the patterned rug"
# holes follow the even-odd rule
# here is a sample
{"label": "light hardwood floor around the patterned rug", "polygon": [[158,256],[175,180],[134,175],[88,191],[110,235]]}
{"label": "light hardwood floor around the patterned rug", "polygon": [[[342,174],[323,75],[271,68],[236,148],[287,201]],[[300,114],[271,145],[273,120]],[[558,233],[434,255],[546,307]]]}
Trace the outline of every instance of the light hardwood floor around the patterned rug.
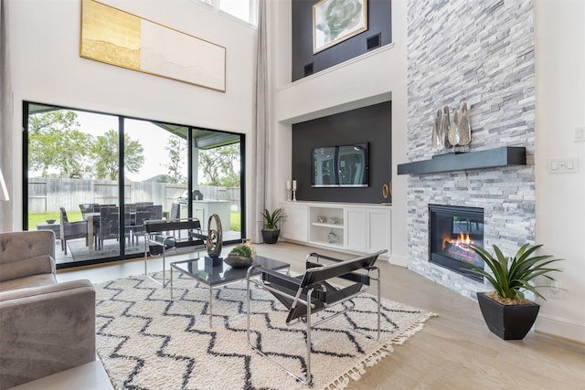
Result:
{"label": "light hardwood floor around the patterned rug", "polygon": [[[290,262],[295,271],[303,270],[306,254],[313,251],[351,257],[286,242],[256,248],[262,256]],[[149,270],[158,260],[149,260]],[[503,341],[489,332],[477,302],[383,259],[378,267],[385,298],[438,316],[378,365],[367,367],[367,374],[348,389],[585,389],[585,345],[535,332],[523,341]],[[63,272],[58,279],[97,283],[142,272],[140,260]]]}

